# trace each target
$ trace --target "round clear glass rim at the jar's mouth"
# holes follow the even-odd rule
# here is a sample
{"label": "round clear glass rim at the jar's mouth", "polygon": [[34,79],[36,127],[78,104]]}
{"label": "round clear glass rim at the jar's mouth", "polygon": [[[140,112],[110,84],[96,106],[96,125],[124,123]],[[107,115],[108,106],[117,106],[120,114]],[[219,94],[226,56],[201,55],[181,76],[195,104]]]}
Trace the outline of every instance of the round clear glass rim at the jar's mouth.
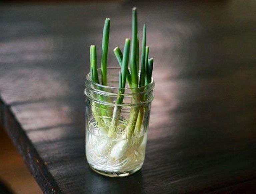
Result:
{"label": "round clear glass rim at the jar's mouth", "polygon": [[[120,69],[121,70],[121,67],[110,66],[110,67],[107,67],[107,69]],[[97,68],[97,70],[101,70],[101,68]],[[139,73],[140,73],[140,71],[139,71]],[[134,87],[134,88],[131,88],[131,87],[119,88],[119,87],[114,87],[114,86],[108,86],[108,85],[102,85],[102,84],[95,83],[94,81],[91,80],[90,75],[91,75],[91,72],[86,74],[86,81],[88,81],[90,84],[93,84],[95,86],[99,86],[101,88],[106,88],[106,89],[124,89],[124,90],[137,89],[137,90],[142,90],[144,88],[151,88],[154,85],[154,79],[153,79],[153,77],[151,77],[151,82],[147,85],[140,86],[140,87]]]}

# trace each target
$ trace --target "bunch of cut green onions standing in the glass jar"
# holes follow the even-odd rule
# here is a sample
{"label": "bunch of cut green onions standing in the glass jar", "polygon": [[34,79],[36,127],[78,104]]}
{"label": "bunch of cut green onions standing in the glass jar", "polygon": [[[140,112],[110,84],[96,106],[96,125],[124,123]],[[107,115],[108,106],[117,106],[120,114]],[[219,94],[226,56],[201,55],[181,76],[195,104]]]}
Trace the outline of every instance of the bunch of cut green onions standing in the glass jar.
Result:
{"label": "bunch of cut green onions standing in the glass jar", "polygon": [[[103,28],[103,38],[102,38],[102,50],[101,50],[101,83],[99,83],[98,73],[97,73],[97,58],[96,58],[96,47],[92,45],[90,47],[90,75],[91,80],[98,84],[107,85],[107,55],[108,55],[108,42],[109,42],[109,31],[110,31],[110,19],[106,18],[104,28]],[[116,133],[117,124],[120,119],[121,106],[118,106],[123,103],[123,95],[125,92],[126,80],[132,90],[136,92],[136,88],[145,86],[151,82],[152,70],[153,70],[153,58],[148,58],[149,47],[146,46],[146,25],[143,26],[143,38],[142,38],[142,48],[141,48],[141,68],[139,74],[139,39],[138,39],[138,27],[137,27],[137,10],[136,8],[132,9],[132,43],[131,43],[131,53],[130,53],[130,39],[125,39],[123,53],[120,48],[114,48],[114,54],[117,58],[117,61],[121,67],[121,72],[119,72],[119,90],[118,97],[115,102],[116,106],[113,109],[111,115],[112,119],[108,124],[109,128],[106,130],[109,138],[113,137]],[[128,68],[129,63],[129,54],[130,54],[130,70]],[[97,96],[96,96],[97,97]],[[98,96],[99,100],[102,99],[102,96]],[[143,97],[133,97],[131,103],[138,103],[143,99]],[[112,102],[113,103],[113,102]],[[101,105],[104,106],[104,105]],[[104,108],[98,111],[92,107],[92,111],[95,117],[95,120],[100,125],[100,119],[106,116],[108,113],[104,112]],[[144,116],[143,107],[133,107],[130,110],[128,117],[128,124],[125,127],[124,138],[130,139],[134,133],[135,126],[140,130],[142,120]],[[127,141],[127,144],[129,142]],[[120,153],[115,150],[120,150],[121,147],[126,147],[127,145],[115,145],[113,147],[113,156],[120,157]],[[111,152],[111,154],[112,154]]]}

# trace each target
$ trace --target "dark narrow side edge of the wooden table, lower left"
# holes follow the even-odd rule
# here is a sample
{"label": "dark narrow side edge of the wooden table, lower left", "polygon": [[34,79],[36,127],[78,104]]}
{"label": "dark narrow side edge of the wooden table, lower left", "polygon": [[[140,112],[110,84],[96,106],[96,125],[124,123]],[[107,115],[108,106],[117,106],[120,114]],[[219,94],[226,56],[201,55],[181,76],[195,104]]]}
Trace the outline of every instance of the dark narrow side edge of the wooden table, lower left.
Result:
{"label": "dark narrow side edge of the wooden table, lower left", "polygon": [[61,193],[37,150],[25,134],[10,106],[0,96],[0,122],[44,193]]}

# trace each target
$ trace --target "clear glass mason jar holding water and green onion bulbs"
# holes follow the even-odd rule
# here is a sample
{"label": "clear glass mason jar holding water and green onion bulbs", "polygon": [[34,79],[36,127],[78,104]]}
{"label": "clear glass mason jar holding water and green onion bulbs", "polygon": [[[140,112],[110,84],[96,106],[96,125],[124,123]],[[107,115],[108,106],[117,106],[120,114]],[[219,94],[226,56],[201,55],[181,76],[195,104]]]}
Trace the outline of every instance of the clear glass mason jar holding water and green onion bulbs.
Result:
{"label": "clear glass mason jar holding water and green onion bulbs", "polygon": [[[118,88],[121,68],[107,68],[108,85],[86,76],[86,158],[99,174],[118,177],[138,171],[144,162],[154,81],[147,86]],[[98,69],[101,82],[101,69]],[[122,104],[116,104],[117,98]]]}

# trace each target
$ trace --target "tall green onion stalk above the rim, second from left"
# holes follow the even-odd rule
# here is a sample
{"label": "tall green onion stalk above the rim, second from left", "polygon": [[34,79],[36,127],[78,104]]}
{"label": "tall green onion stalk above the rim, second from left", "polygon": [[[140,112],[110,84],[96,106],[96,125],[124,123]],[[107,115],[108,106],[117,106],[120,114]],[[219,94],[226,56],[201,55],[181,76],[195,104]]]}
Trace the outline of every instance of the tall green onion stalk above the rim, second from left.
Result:
{"label": "tall green onion stalk above the rim, second from left", "polygon": [[106,18],[101,49],[101,82],[102,85],[107,85],[107,56],[108,56],[108,41],[109,41],[110,19]]}

